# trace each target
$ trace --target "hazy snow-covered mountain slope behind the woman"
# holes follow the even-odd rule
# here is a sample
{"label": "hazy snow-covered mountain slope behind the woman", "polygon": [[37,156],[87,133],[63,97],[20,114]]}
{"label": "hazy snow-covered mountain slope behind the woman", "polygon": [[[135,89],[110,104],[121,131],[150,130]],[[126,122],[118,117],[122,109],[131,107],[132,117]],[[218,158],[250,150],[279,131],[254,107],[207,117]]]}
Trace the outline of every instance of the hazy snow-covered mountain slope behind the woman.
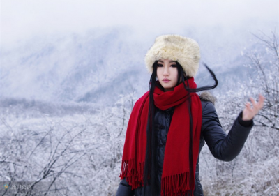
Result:
{"label": "hazy snow-covered mountain slope behind the woman", "polygon": [[[84,34],[38,36],[13,50],[3,48],[0,98],[101,106],[114,104],[120,94],[135,91],[137,96],[142,95],[148,90],[150,77],[144,55],[152,43],[131,40],[129,33],[116,28],[93,29]],[[204,38],[197,40],[201,61],[208,63],[219,80],[215,91],[248,79],[250,70],[243,66],[248,59],[240,50],[222,45],[220,40],[216,46]],[[203,66],[195,80],[198,86],[213,84]]]}

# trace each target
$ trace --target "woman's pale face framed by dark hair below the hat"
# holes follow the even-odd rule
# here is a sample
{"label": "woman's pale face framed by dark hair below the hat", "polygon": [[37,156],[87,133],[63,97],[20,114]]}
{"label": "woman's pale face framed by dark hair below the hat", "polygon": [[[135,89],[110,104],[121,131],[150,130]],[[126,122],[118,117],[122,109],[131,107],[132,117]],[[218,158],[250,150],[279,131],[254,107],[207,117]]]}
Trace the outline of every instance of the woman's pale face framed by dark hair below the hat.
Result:
{"label": "woman's pale face framed by dark hair below the hat", "polygon": [[176,62],[168,59],[159,59],[157,77],[165,91],[173,91],[177,84],[178,71]]}

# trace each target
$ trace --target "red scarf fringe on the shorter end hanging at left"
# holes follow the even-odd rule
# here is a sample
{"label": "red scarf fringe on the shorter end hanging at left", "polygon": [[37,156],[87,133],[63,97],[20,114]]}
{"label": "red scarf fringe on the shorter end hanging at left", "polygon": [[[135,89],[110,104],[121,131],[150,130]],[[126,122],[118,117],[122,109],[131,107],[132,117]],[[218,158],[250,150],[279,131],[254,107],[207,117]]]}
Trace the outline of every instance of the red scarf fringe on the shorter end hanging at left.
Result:
{"label": "red scarf fringe on the shorter end hanging at left", "polygon": [[[137,166],[137,167],[136,167]],[[135,169],[137,168],[137,169]],[[144,162],[136,165],[135,158],[122,160],[120,179],[126,177],[126,181],[132,186],[132,190],[143,186],[144,183]]]}

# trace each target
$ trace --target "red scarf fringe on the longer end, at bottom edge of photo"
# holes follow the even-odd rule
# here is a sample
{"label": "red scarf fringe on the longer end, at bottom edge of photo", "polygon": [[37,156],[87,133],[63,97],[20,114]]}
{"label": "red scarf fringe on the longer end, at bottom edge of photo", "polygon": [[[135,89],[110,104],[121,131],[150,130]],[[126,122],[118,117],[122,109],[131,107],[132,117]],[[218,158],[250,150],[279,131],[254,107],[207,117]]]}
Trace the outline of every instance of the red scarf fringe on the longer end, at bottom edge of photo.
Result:
{"label": "red scarf fringe on the longer end, at bottom edge of photo", "polygon": [[190,188],[190,172],[162,178],[161,195],[193,195],[193,190]]}

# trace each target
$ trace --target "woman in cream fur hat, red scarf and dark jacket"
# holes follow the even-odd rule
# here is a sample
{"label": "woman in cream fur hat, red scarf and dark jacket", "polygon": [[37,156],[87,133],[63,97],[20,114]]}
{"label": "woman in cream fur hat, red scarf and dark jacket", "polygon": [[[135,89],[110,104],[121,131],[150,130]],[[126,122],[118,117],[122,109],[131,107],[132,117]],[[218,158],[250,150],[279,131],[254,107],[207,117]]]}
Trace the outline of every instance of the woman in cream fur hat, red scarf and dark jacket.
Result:
{"label": "woman in cream fur hat, red scarf and dark jacket", "polygon": [[195,40],[175,35],[159,36],[147,52],[150,90],[130,116],[116,196],[203,195],[198,163],[204,141],[220,160],[240,153],[264,97],[259,103],[251,98],[253,107],[246,103],[226,135],[213,99],[196,94],[218,84],[208,68],[216,84],[197,89],[199,58]]}

